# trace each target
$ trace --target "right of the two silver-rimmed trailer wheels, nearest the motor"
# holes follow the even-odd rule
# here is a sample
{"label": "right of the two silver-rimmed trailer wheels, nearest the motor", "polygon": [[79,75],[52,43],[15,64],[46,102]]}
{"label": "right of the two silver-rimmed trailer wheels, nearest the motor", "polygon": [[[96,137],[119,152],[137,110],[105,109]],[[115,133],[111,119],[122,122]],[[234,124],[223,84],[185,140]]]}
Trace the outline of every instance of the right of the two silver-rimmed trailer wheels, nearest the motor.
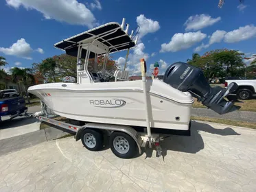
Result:
{"label": "right of the two silver-rimmed trailer wheels, nearest the motor", "polygon": [[124,132],[110,134],[110,149],[119,158],[132,158],[137,153],[137,144]]}

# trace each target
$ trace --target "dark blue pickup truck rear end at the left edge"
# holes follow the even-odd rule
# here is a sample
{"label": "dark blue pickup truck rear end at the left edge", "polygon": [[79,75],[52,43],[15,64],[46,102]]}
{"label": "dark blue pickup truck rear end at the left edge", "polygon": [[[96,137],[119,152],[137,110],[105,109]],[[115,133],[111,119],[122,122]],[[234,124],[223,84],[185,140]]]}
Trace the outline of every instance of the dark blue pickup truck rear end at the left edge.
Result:
{"label": "dark blue pickup truck rear end at the left edge", "polygon": [[13,119],[25,115],[27,107],[23,97],[1,97],[0,95],[0,121]]}

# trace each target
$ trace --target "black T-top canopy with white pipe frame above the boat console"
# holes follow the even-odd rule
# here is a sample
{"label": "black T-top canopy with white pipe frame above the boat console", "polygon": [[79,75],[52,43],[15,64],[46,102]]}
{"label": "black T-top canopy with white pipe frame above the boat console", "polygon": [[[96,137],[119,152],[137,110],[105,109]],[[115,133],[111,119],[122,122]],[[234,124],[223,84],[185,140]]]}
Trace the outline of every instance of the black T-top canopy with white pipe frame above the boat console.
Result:
{"label": "black T-top canopy with white pipe frame above the boat console", "polygon": [[[106,45],[110,49],[110,53],[132,48],[136,45],[135,41],[121,29],[119,23],[111,22],[62,40],[56,43],[54,47],[65,50],[68,55],[76,57],[78,55],[78,45],[80,43],[91,43],[95,38],[98,42]],[[81,58],[85,58],[85,56],[86,49],[82,49]],[[91,52],[89,58],[94,58],[94,56],[95,53]]]}

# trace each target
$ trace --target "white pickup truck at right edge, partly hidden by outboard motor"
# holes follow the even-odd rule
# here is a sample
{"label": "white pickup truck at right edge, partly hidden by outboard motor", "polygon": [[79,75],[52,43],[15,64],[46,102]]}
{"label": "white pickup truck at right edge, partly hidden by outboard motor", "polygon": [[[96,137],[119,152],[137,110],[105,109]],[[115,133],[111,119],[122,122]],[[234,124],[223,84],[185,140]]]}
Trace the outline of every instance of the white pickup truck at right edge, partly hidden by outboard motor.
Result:
{"label": "white pickup truck at right edge, partly hidden by outboard motor", "polygon": [[226,80],[225,87],[229,86],[232,82],[238,85],[237,90],[230,95],[236,95],[237,99],[252,99],[256,95],[256,80]]}

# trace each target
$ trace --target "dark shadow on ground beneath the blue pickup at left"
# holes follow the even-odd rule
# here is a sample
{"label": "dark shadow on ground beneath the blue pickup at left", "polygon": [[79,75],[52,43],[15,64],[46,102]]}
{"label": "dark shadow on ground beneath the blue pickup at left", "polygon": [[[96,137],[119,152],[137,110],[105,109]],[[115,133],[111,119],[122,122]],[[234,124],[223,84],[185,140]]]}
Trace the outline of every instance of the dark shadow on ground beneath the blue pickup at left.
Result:
{"label": "dark shadow on ground beneath the blue pickup at left", "polygon": [[0,130],[16,128],[23,125],[29,125],[38,121],[36,118],[32,117],[17,117],[11,120],[0,121]]}

